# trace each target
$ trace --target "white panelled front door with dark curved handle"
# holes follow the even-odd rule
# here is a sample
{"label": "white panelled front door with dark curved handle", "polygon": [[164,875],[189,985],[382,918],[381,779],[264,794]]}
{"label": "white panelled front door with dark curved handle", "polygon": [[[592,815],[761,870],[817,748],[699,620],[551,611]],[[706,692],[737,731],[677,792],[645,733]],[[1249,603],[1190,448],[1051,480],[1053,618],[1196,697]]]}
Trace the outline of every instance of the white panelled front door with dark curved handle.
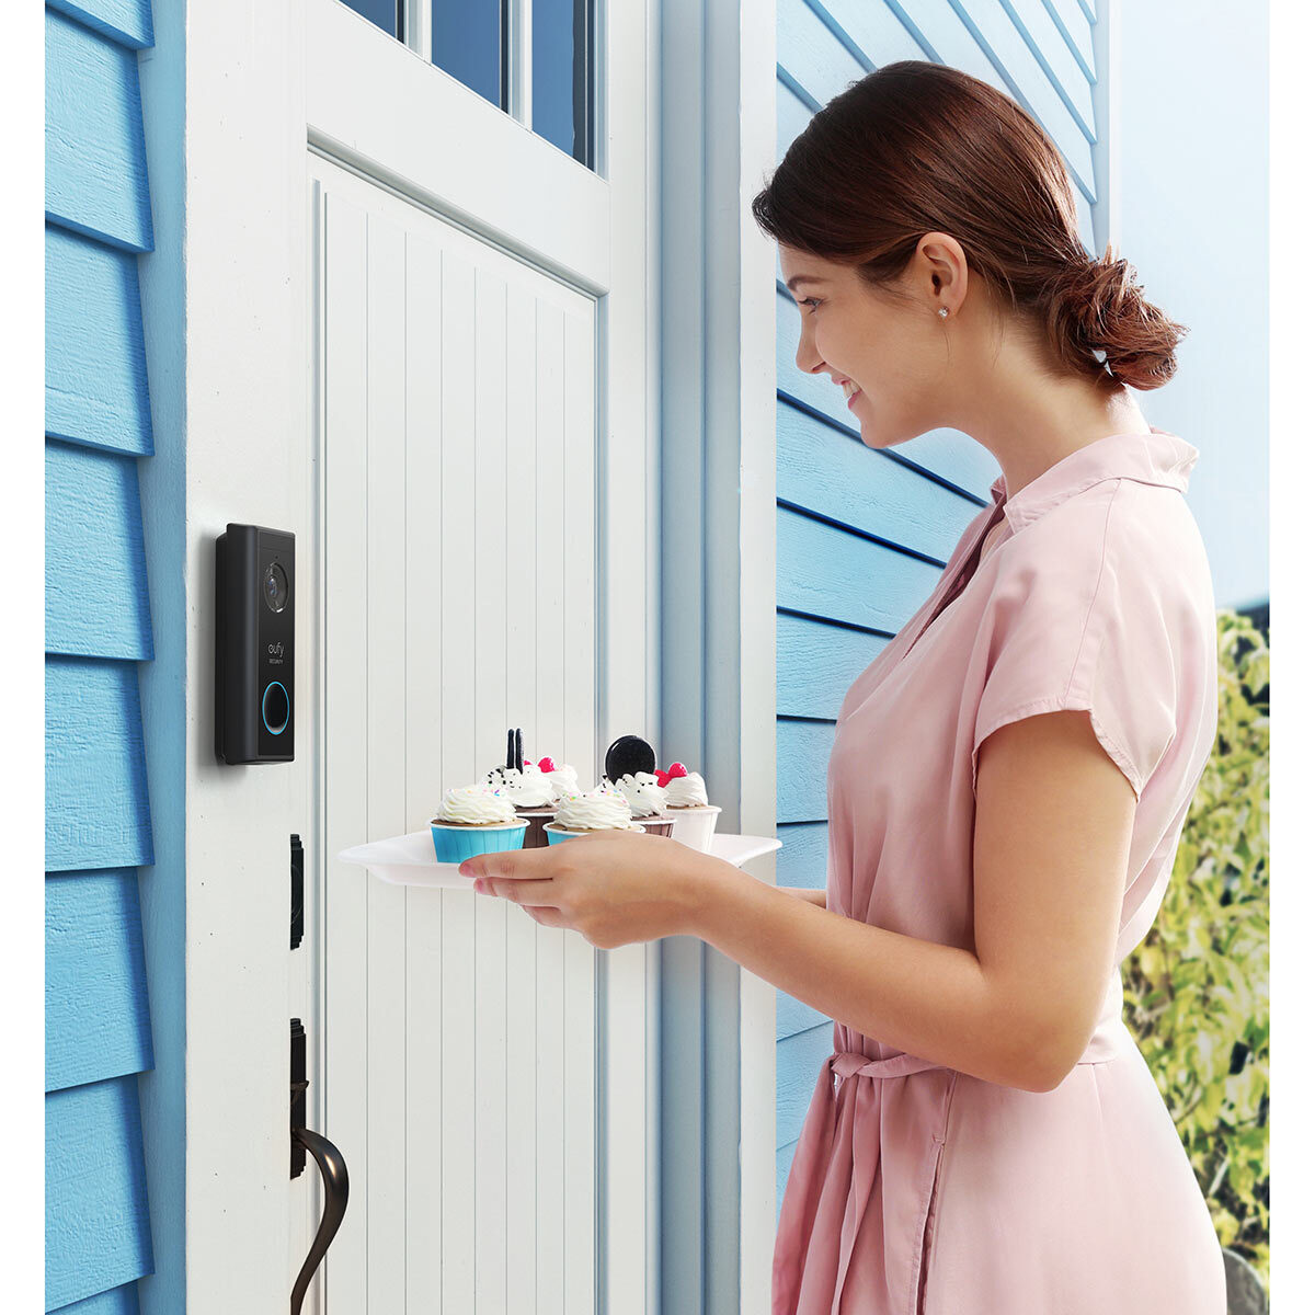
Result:
{"label": "white panelled front door with dark curved handle", "polygon": [[[338,0],[306,4],[314,780],[292,1003],[308,1123],[350,1174],[308,1311],[646,1306],[652,947],[598,952],[504,901],[337,860],[422,828],[504,760],[509,726],[581,781],[644,731],[647,37],[630,8],[598,42],[605,178]],[[321,1207],[312,1162],[292,1273]]]}

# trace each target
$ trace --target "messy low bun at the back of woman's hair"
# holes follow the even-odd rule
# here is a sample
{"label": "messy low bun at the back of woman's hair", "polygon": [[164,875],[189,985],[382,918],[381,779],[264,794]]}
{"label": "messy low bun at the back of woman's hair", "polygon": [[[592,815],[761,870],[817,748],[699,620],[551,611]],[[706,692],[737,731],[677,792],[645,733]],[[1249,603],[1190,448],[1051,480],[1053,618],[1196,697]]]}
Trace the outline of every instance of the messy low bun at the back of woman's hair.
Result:
{"label": "messy low bun at the back of woman's hair", "polygon": [[1051,331],[1061,355],[1132,388],[1159,388],[1177,368],[1174,348],[1187,333],[1145,300],[1136,270],[1112,247],[1069,262],[1056,279]]}

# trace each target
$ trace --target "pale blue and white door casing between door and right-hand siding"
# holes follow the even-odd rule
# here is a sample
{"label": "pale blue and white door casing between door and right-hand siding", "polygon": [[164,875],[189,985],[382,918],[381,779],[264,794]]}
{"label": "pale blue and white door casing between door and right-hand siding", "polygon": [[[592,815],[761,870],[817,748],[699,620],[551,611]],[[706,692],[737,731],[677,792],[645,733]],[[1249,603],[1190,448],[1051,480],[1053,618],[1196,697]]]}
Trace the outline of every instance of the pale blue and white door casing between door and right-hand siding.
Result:
{"label": "pale blue and white door casing between door and right-hand siding", "polygon": [[[776,830],[776,255],[750,212],[776,162],[775,8],[663,9],[659,744],[755,835]],[[775,881],[771,857],[748,871]],[[767,1310],[776,990],[693,938],[663,976],[663,1308]]]}

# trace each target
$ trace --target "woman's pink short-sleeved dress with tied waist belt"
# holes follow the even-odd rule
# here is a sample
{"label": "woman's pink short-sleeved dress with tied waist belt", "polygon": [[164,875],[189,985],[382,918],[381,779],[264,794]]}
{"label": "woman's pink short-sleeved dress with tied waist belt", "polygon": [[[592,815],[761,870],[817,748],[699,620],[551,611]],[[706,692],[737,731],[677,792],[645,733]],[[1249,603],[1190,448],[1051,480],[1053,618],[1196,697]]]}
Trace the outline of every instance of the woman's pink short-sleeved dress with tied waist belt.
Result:
{"label": "woman's pink short-sleeved dress with tied waist belt", "polygon": [[1224,1315],[1219,1241],[1118,968],[1164,898],[1218,725],[1214,589],[1182,496],[1198,455],[1153,429],[1089,443],[1007,498],[997,479],[840,705],[827,907],[848,918],[973,948],[977,750],[1007,722],[1088,711],[1136,821],[1101,1022],[1055,1090],[834,1024],[772,1315]]}

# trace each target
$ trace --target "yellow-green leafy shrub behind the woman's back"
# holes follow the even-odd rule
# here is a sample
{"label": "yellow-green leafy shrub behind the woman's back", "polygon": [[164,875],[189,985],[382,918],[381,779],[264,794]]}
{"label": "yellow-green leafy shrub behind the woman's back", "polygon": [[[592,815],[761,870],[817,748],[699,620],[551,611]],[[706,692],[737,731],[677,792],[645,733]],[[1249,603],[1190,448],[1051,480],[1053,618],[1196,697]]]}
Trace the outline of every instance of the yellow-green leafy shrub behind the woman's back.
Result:
{"label": "yellow-green leafy shrub behind the woman's back", "polygon": [[1219,732],[1124,1018],[1224,1247],[1269,1287],[1269,644],[1220,610]]}

